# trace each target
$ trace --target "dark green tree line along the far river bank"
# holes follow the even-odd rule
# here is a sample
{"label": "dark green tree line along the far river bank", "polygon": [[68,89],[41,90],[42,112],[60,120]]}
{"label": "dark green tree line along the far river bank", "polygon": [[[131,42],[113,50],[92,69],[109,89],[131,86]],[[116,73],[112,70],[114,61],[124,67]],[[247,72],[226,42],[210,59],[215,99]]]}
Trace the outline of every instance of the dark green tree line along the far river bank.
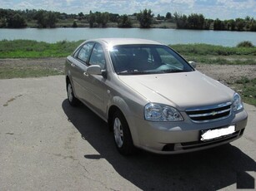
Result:
{"label": "dark green tree line along the far river bank", "polygon": [[[171,22],[178,29],[198,30],[225,30],[225,31],[251,31],[256,32],[256,20],[253,17],[236,18],[221,21],[218,18],[206,19],[203,14],[192,13],[184,15],[178,12],[167,12],[165,16],[154,17],[151,9],[144,9],[133,15],[119,15],[110,12],[92,12],[83,14],[67,14],[65,12],[51,12],[45,10],[12,10],[0,8],[0,27],[23,28],[28,23],[35,22],[36,27],[57,27],[58,22],[72,20],[72,27],[78,27],[78,22],[88,23],[88,27],[108,27],[109,23],[116,23],[117,27],[142,27],[158,26],[158,23]],[[136,25],[138,23],[138,25]]]}

